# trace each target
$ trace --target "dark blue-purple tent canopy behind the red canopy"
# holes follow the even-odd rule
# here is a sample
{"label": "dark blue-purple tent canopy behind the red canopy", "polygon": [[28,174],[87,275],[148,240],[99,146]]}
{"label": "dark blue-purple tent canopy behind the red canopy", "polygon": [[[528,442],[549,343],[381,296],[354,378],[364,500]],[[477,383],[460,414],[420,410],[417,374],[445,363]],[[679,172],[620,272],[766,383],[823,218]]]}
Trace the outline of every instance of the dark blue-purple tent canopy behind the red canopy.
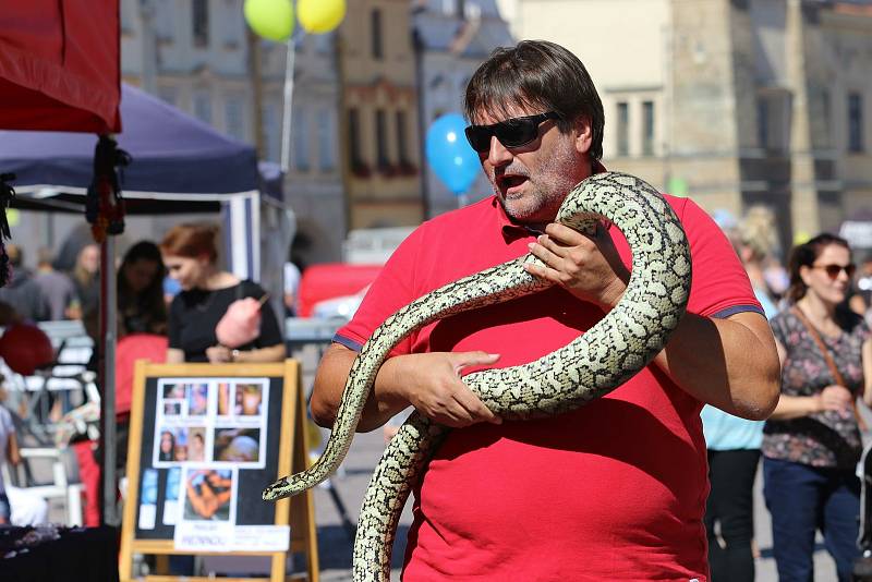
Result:
{"label": "dark blue-purple tent canopy behind the red canopy", "polygon": [[[193,206],[174,211],[196,210],[198,201],[210,201],[214,209],[215,202],[258,190],[254,147],[130,85],[122,86],[121,116],[119,147],[133,158],[121,185],[129,211],[173,211],[164,207],[169,201]],[[88,134],[0,131],[0,168],[15,173],[15,190],[25,195],[15,206],[62,209],[47,197],[27,196],[39,190],[45,196],[45,189],[58,191],[58,201],[81,204],[93,175],[96,144],[97,136]]]}

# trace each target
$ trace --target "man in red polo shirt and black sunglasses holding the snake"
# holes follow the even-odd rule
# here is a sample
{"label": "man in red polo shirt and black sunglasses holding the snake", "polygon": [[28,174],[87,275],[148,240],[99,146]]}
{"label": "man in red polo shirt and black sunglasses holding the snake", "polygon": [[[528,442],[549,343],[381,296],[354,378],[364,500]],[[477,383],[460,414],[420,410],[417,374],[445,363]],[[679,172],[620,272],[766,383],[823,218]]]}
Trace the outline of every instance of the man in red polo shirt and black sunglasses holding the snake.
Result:
{"label": "man in red polo shirt and black sunglasses holding the snake", "polygon": [[522,41],[470,81],[467,131],[495,196],[415,230],[340,329],[318,368],[329,426],[356,351],[391,313],[447,282],[528,252],[556,284],[459,314],[403,339],[359,429],[408,405],[453,426],[415,488],[403,577],[429,580],[706,580],[703,403],[764,419],[778,395],[772,334],[736,253],[695,204],[667,197],[688,233],[688,315],[654,363],[609,396],[553,419],[501,422],[465,387],[482,367],[523,364],[574,339],[620,299],[630,252],[617,229],[552,223],[603,171],[604,114],[581,62]]}

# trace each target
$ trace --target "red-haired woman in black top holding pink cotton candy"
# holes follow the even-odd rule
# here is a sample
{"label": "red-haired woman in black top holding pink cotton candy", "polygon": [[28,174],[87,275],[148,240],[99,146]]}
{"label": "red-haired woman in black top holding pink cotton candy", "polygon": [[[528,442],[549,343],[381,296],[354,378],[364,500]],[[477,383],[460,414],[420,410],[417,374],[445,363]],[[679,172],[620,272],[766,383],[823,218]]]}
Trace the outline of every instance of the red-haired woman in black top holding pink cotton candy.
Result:
{"label": "red-haired woman in black top holding pink cotton candy", "polygon": [[217,268],[216,237],[215,227],[180,225],[160,243],[164,264],[182,288],[170,305],[167,362],[281,362],[284,341],[268,303],[261,307],[261,335],[254,341],[235,349],[218,342],[215,327],[230,304],[266,293]]}

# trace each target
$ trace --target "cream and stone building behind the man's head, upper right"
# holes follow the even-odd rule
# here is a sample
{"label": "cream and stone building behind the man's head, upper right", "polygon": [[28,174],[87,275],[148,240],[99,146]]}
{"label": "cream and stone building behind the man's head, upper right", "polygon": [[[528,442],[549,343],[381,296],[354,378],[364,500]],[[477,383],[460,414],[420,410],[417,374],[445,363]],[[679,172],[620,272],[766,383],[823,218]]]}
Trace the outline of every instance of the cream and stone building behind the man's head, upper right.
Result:
{"label": "cream and stone building behind the man's head, upper right", "polygon": [[[707,210],[775,210],[782,243],[872,207],[865,0],[502,0],[576,52],[606,109],[606,166]],[[555,17],[555,14],[560,17]]]}

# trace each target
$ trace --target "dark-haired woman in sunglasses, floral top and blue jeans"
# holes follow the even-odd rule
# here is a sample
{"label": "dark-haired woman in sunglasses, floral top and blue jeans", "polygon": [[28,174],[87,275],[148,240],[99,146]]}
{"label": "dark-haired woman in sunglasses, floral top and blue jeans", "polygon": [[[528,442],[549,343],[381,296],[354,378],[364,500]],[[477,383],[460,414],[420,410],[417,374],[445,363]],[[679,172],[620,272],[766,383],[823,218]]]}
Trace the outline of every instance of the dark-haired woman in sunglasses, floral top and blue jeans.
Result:
{"label": "dark-haired woman in sunglasses, floral top and blue jeans", "polygon": [[772,319],[782,397],[763,429],[763,478],[780,580],[812,580],[821,530],[838,579],[857,548],[862,442],[856,400],[872,402],[872,340],[844,307],[855,272],[847,241],[820,234],[789,260],[789,307]]}

